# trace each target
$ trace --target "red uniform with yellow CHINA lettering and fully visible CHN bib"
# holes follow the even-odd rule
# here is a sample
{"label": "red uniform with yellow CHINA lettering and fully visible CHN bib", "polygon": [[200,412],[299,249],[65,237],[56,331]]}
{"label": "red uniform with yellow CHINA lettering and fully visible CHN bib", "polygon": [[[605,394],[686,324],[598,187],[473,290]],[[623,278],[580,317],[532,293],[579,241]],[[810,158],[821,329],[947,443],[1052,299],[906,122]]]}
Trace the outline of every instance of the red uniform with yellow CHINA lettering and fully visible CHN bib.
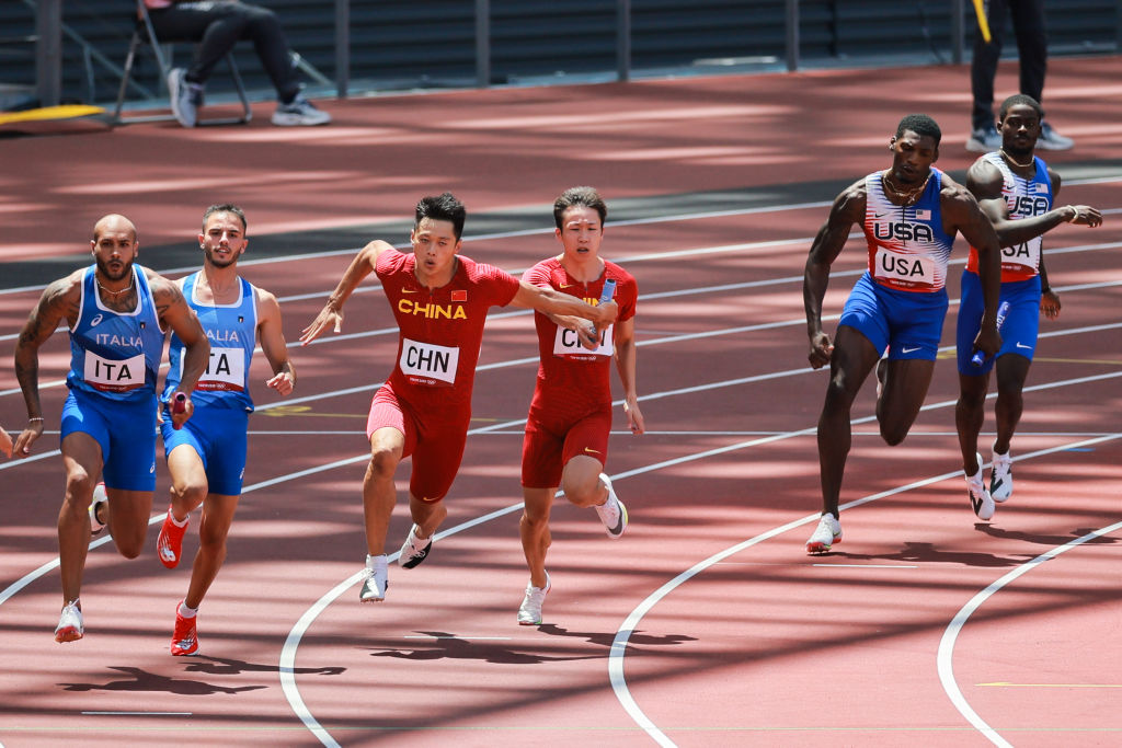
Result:
{"label": "red uniform with yellow CHINA lettering and fully visible CHN bib", "polygon": [[399,329],[397,362],[374,395],[367,436],[390,426],[413,456],[410,492],[423,501],[448,493],[463,458],[471,418],[471,387],[491,306],[506,306],[518,279],[462,255],[444,286],[417,281],[416,257],[386,251],[375,268]]}

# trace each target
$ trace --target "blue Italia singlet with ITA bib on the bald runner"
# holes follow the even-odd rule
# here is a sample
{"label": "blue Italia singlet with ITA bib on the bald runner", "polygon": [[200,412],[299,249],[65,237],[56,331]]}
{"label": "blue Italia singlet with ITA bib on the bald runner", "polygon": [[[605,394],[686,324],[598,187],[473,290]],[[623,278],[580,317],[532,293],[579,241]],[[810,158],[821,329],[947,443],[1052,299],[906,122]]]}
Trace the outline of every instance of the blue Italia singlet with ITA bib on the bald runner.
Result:
{"label": "blue Italia singlet with ITA bib on the bald runner", "polygon": [[156,372],[164,352],[156,302],[144,269],[132,266],[137,305],[114,312],[101,303],[96,266],[82,276],[77,322],[71,329],[71,370],[66,386],[119,403],[139,403],[156,394]]}

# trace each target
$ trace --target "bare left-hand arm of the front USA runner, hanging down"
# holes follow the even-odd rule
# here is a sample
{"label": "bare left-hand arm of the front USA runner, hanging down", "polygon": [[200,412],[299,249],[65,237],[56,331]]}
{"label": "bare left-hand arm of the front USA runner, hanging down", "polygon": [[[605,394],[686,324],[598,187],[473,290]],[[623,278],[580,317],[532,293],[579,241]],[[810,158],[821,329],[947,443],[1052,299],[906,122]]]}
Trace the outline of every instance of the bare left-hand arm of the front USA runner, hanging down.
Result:
{"label": "bare left-hand arm of the front USA runner, hanging down", "polygon": [[822,332],[822,298],[830,281],[830,266],[842,253],[849,228],[865,215],[865,181],[849,185],[835,200],[826,223],[810,244],[807,267],[802,275],[802,305],[807,312],[807,336],[810,339],[810,366],[815,369],[829,363],[834,345]]}

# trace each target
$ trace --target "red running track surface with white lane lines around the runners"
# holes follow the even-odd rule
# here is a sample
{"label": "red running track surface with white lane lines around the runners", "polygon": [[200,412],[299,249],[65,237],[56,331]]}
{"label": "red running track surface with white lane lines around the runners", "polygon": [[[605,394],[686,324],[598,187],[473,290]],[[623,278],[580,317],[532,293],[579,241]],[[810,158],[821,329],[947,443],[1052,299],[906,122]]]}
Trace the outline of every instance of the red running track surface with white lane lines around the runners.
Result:
{"label": "red running track surface with white lane lines around the runners", "polygon": [[[1014,72],[1003,68],[999,91]],[[825,376],[806,364],[801,273],[825,206],[635,225],[609,218],[604,252],[642,294],[652,433],[611,441],[608,472],[632,517],[622,541],[607,541],[592,512],[555,508],[545,625],[515,624],[526,582],[519,421],[536,366],[526,314],[500,313],[485,336],[478,433],[448,499],[449,535],[424,565],[390,569],[385,603],[358,604],[361,430],[394,353],[388,310],[371,290],[347,310],[344,333],[362,336],[294,351],[293,398],[256,391],[247,491],[200,613],[199,657],[167,653],[190,572],[159,565],[156,529],[132,562],[96,544],[86,637],[55,644],[57,435],[40,440],[42,459],[0,463],[0,741],[1116,745],[1119,80],[1118,58],[1050,65],[1049,116],[1077,149],[1046,154],[1049,163],[1064,175],[1065,164],[1110,160],[1101,182],[1066,177],[1060,201],[1110,212],[1102,229],[1063,227],[1046,240],[1064,312],[1041,326],[1014,440],[1017,493],[993,521],[976,523],[964,495],[956,375],[944,360],[900,447],[876,436],[872,386],[863,394],[843,501],[864,502],[843,512],[834,553],[806,556]],[[445,188],[481,213],[544,205],[579,183],[610,204],[856,178],[888,165],[888,137],[913,110],[944,126],[940,166],[963,169],[966,89],[955,67],[680,80],[327,102],[337,123],[300,132],[268,127],[261,111],[243,128],[0,141],[2,257],[82,251],[110,211],[134,218],[149,244],[182,241],[204,205],[224,200],[246,207],[252,249],[254,236],[407,218],[416,196]],[[512,270],[552,251],[548,232],[465,247]],[[853,242],[828,314],[863,258]],[[247,265],[245,275],[282,298],[295,341],[322,303],[314,294],[348,260]],[[954,298],[957,281],[950,289]],[[0,294],[9,361],[36,296]],[[951,313],[945,344],[953,323]],[[58,335],[43,382],[65,364]],[[24,410],[10,368],[0,393],[11,428]],[[63,388],[43,398],[56,427]],[[984,446],[992,428],[991,416]],[[404,470],[399,478],[404,491]],[[154,516],[166,486],[160,468]],[[390,539],[407,528],[403,501]],[[192,529],[185,553],[196,546]]]}

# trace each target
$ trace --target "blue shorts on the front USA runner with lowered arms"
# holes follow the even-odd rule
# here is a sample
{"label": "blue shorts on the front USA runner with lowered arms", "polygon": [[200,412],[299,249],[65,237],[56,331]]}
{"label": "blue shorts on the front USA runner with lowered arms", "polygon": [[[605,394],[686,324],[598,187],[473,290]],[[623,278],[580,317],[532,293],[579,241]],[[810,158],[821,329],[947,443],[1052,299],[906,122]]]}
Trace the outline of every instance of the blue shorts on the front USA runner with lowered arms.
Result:
{"label": "blue shorts on the front USA runner with lowered arms", "polygon": [[935,361],[947,316],[946,289],[932,294],[894,290],[866,271],[849,293],[838,325],[853,327],[889,359]]}

